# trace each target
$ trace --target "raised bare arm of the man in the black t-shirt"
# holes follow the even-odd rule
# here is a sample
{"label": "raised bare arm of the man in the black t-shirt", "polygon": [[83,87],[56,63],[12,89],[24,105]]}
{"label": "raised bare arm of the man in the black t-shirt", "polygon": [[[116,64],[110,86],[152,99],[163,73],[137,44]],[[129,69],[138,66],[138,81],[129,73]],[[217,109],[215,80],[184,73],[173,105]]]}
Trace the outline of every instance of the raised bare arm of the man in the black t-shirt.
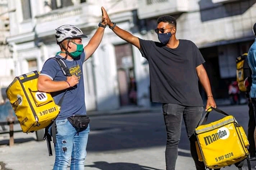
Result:
{"label": "raised bare arm of the man in the black t-shirt", "polygon": [[133,36],[131,33],[119,28],[118,26],[114,26],[114,23],[111,22],[108,13],[106,12],[105,8],[102,6],[101,11],[104,16],[106,16],[107,25],[109,27],[112,27],[113,32],[123,40],[131,43],[132,45],[136,46],[138,49],[140,49],[140,41],[139,38],[136,36]]}

